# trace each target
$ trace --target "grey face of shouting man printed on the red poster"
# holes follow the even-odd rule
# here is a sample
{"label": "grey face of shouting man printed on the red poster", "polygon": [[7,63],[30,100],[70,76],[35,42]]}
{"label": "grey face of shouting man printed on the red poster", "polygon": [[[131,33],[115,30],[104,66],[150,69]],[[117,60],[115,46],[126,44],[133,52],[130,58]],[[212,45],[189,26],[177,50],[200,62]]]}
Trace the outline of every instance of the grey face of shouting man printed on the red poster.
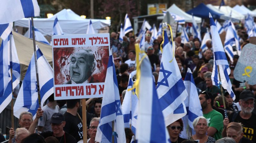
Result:
{"label": "grey face of shouting man printed on the red poster", "polygon": [[89,83],[95,70],[95,56],[89,49],[78,49],[70,56],[70,77],[73,83]]}

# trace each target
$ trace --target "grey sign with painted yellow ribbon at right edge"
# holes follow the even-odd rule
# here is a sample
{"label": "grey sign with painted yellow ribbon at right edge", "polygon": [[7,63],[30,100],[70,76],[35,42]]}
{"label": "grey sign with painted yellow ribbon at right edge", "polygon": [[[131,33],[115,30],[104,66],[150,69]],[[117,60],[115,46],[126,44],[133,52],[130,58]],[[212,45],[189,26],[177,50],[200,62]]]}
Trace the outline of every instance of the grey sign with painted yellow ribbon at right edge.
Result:
{"label": "grey sign with painted yellow ribbon at right edge", "polygon": [[246,44],[241,52],[234,70],[234,77],[241,82],[248,82],[250,85],[256,84],[256,45]]}

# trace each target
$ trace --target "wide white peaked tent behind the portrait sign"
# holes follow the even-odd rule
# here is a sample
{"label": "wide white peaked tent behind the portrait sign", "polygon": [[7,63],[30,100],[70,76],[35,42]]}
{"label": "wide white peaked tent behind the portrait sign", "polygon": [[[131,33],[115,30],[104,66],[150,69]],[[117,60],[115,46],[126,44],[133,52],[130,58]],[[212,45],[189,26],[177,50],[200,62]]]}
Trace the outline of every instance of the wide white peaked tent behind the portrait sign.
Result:
{"label": "wide white peaked tent behind the portrait sign", "polygon": [[[58,18],[64,34],[85,34],[89,25],[89,19],[82,19],[79,15],[70,9],[63,9],[51,18],[34,18],[34,26],[45,36],[52,35],[54,19]],[[28,28],[28,18],[17,20],[14,26]],[[96,33],[99,29],[110,26],[110,20],[92,19],[92,26]]]}

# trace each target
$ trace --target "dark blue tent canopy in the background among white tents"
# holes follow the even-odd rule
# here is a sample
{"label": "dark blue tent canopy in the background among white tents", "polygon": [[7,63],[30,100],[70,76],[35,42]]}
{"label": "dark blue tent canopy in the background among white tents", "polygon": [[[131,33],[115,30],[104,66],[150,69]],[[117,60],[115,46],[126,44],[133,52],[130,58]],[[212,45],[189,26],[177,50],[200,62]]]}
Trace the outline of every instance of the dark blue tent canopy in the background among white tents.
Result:
{"label": "dark blue tent canopy in the background among white tents", "polygon": [[222,13],[213,11],[203,3],[197,5],[195,8],[191,9],[190,11],[187,11],[188,14],[198,16],[201,18],[209,18],[209,12],[212,14],[212,17],[214,19],[219,19],[220,16],[223,15]]}

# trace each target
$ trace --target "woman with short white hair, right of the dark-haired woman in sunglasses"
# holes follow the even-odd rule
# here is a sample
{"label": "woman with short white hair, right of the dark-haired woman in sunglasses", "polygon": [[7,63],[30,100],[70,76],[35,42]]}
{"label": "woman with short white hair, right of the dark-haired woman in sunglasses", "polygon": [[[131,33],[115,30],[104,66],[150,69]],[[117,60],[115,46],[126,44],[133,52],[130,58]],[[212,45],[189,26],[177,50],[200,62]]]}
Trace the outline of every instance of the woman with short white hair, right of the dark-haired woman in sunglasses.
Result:
{"label": "woman with short white hair, right of the dark-haired woman in sunglasses", "polygon": [[193,126],[195,134],[188,137],[189,140],[199,140],[200,143],[214,143],[216,140],[213,137],[207,136],[208,123],[206,118],[199,116],[194,119]]}

